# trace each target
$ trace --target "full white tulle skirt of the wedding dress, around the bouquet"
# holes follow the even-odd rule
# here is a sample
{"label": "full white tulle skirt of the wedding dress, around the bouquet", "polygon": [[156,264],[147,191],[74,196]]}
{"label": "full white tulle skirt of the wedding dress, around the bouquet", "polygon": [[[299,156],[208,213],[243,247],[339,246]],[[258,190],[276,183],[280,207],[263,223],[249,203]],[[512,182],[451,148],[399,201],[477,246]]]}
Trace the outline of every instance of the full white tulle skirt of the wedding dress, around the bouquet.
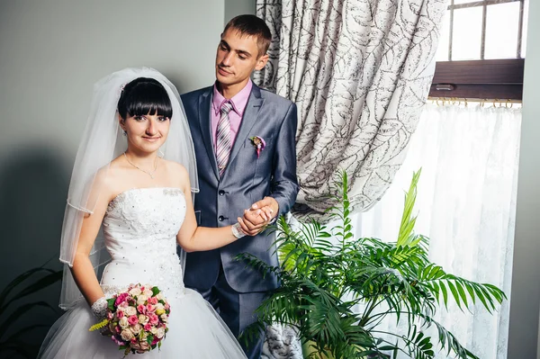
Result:
{"label": "full white tulle skirt of the wedding dress, around the bouquet", "polygon": [[[198,292],[185,289],[179,298],[167,298],[171,305],[169,330],[161,349],[136,354],[133,359],[239,359],[246,358],[227,325]],[[121,359],[111,337],[88,331],[97,322],[92,311],[80,301],[50,328],[40,349],[43,359]]]}

